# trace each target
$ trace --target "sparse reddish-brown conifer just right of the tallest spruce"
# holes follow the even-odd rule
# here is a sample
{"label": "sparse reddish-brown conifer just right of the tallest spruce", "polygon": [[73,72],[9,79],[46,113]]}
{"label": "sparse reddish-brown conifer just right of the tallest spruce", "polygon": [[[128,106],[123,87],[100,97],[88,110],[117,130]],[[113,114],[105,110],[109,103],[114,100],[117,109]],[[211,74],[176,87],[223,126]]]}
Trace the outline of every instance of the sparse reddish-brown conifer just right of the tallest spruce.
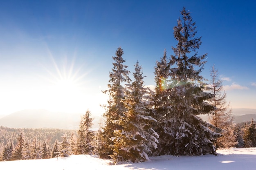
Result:
{"label": "sparse reddish-brown conifer just right of the tallest spruce", "polygon": [[[216,148],[229,148],[236,146],[236,136],[234,134],[233,117],[229,104],[226,104],[226,93],[222,92],[222,80],[218,78],[218,70],[211,69],[210,88],[213,97],[209,103],[215,107],[213,115],[209,115],[209,121],[214,126],[223,129],[222,137],[214,141]],[[229,102],[230,103],[230,102]]]}

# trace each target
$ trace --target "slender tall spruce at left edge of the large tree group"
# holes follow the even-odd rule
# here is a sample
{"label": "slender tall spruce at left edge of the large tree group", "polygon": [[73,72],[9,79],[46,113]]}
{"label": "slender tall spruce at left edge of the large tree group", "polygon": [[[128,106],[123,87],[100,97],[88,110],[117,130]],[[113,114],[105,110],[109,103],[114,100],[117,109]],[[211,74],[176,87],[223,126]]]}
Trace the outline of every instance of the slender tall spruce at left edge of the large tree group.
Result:
{"label": "slender tall spruce at left edge of the large tree group", "polygon": [[122,84],[130,82],[128,76],[130,71],[126,70],[128,66],[123,64],[126,62],[122,57],[123,54],[123,49],[119,47],[116,51],[116,56],[112,57],[114,62],[112,63],[112,72],[109,73],[108,90],[103,91],[103,93],[109,94],[109,101],[108,106],[105,106],[106,112],[103,114],[103,117],[106,119],[106,126],[103,127],[99,144],[101,146],[99,148],[99,157],[101,158],[110,158],[109,155],[113,155],[114,142],[110,138],[115,137],[115,130],[123,128],[116,124],[115,121],[119,120],[121,116],[124,116],[124,112],[127,111],[123,102],[126,89]]}

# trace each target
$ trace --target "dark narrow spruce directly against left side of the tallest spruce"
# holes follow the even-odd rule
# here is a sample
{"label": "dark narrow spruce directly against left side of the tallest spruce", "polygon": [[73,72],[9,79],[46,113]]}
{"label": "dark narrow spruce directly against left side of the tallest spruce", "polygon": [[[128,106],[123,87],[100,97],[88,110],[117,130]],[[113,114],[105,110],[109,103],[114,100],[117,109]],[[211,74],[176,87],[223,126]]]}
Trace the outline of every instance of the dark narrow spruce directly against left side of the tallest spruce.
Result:
{"label": "dark narrow spruce directly against left side of the tallest spruce", "polygon": [[154,155],[171,154],[170,142],[173,140],[173,135],[168,131],[170,126],[169,119],[171,117],[171,99],[170,99],[170,64],[166,56],[166,50],[160,61],[156,61],[155,69],[155,94],[152,98],[154,101],[155,115],[157,123],[154,128],[159,135],[158,149],[155,150]]}

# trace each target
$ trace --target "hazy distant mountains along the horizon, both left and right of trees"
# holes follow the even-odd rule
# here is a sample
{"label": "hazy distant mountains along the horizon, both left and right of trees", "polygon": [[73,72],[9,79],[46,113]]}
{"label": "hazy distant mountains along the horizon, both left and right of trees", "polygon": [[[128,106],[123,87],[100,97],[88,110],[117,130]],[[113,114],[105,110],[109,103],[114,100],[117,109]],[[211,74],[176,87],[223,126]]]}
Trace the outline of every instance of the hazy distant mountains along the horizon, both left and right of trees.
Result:
{"label": "hazy distant mountains along the horizon, both left and right of trees", "polygon": [[[234,108],[232,109],[235,123],[256,120],[256,109]],[[58,128],[58,129],[78,129],[83,113],[61,113],[48,110],[21,110],[0,118],[0,126],[9,128]],[[207,115],[201,115],[204,121],[208,121]],[[101,117],[95,117],[93,130],[99,128]]]}

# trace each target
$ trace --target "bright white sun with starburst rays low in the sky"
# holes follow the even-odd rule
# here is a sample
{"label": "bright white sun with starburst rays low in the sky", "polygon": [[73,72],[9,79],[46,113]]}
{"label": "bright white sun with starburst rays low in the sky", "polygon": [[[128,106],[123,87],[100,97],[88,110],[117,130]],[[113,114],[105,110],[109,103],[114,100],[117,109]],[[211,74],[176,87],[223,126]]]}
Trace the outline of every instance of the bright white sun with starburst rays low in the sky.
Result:
{"label": "bright white sun with starburst rays low in the sky", "polygon": [[75,112],[83,107],[86,110],[85,98],[88,93],[84,77],[88,73],[81,74],[81,69],[74,68],[74,61],[65,61],[62,66],[58,66],[52,59],[54,70],[47,70],[49,75],[47,80],[50,85],[45,88],[45,104],[49,110],[62,112]]}

